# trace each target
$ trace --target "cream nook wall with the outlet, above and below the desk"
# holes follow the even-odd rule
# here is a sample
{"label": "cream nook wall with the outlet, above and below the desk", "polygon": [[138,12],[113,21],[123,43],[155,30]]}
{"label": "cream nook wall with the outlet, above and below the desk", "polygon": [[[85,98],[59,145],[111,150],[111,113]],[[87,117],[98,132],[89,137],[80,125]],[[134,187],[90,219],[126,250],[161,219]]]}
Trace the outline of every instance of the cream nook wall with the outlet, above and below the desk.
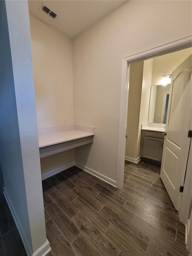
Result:
{"label": "cream nook wall with the outlet, above and below the desk", "polygon": [[[38,128],[74,124],[72,40],[32,14],[30,18]],[[64,170],[74,164],[75,151],[41,158],[41,173]]]}

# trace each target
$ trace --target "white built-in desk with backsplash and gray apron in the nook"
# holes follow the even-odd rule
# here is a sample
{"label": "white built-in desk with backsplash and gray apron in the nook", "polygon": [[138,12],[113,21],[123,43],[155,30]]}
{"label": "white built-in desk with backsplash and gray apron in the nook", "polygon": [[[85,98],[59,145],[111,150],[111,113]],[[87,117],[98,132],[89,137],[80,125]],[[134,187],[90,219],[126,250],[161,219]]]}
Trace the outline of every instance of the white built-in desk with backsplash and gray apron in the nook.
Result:
{"label": "white built-in desk with backsplash and gray apron in the nook", "polygon": [[40,158],[93,142],[94,130],[82,125],[39,128]]}

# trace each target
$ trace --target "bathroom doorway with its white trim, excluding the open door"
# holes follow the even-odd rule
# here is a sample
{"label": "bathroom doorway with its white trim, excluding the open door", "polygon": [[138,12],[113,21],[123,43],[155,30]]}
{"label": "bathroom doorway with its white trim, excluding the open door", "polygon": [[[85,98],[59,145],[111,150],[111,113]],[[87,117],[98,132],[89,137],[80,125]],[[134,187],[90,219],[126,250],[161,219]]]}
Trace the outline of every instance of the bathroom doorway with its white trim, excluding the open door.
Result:
{"label": "bathroom doorway with its white trim, excluding the open door", "polygon": [[[146,54],[142,53],[141,56],[137,54],[135,58],[134,56],[131,56],[123,59],[124,65],[122,68],[122,87],[123,85],[124,87],[122,88],[122,92],[124,89],[126,93],[121,95],[121,106],[123,109],[122,103],[124,103],[125,108],[124,111],[120,111],[119,133],[121,131],[123,131],[123,133],[121,134],[122,136],[119,134],[119,146],[121,147],[119,147],[118,150],[118,188],[123,186],[125,160],[134,164],[138,164],[138,162],[142,160],[143,162],[147,161],[151,164],[161,166],[164,136],[166,135],[165,128],[171,83],[171,80],[169,79],[171,76],[169,76],[167,86],[164,86],[161,83],[161,78],[165,77],[163,73],[171,74],[172,70],[180,65],[191,54],[191,39],[187,41],[187,39],[184,38],[182,41],[180,41],[179,47],[178,44],[176,45],[177,46],[174,47],[172,44],[169,49],[170,54],[164,49],[163,46],[163,50],[159,47],[156,53],[154,49],[152,49],[152,54],[150,54],[150,51],[147,51]],[[168,46],[165,48],[167,49]],[[152,56],[153,58],[149,58],[149,56]],[[177,62],[176,66],[172,66],[172,64],[167,61],[167,58],[170,56],[170,63]],[[162,62],[162,59],[164,58],[165,61]],[[152,65],[150,64],[151,61],[154,62]],[[143,66],[141,65],[142,62]],[[158,62],[161,65],[158,66]],[[166,64],[168,65],[168,68],[170,68],[168,72],[167,70],[164,70]],[[138,85],[137,81],[135,88],[135,85],[132,86],[133,82],[131,77],[134,74],[132,71],[134,71],[136,65],[140,65],[140,69],[142,69],[143,72],[143,77],[140,79],[140,85]],[[151,68],[150,79],[148,79],[150,72],[148,72],[149,70],[147,69],[149,67]],[[140,72],[135,72],[134,74],[137,79],[139,77],[139,73]],[[148,73],[148,77],[146,73]],[[135,95],[134,90],[136,91]],[[137,111],[138,106],[131,106],[130,99],[134,99],[134,101],[132,101],[134,104],[135,102],[139,104],[139,111]],[[129,109],[131,109],[131,117],[129,116]],[[121,126],[122,123],[123,125]],[[132,132],[129,132],[130,126]],[[153,133],[152,131],[154,130],[155,132]],[[125,134],[127,134],[126,139],[125,136],[123,136]],[[133,142],[135,143],[134,146],[131,145]],[[126,155],[127,145],[129,152],[134,153],[134,156]],[[160,172],[160,170],[158,172]]]}

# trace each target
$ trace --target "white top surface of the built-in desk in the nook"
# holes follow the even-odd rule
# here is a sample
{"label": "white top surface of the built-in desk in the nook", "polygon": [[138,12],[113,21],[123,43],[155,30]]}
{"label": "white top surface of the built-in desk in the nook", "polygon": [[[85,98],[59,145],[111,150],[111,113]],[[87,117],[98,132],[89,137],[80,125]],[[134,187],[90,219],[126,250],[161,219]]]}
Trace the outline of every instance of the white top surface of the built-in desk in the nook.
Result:
{"label": "white top surface of the built-in desk in the nook", "polygon": [[41,134],[39,135],[39,148],[70,141],[76,140],[84,137],[88,137],[94,135],[94,133],[88,133],[83,131],[62,131],[62,132],[54,132],[49,134]]}

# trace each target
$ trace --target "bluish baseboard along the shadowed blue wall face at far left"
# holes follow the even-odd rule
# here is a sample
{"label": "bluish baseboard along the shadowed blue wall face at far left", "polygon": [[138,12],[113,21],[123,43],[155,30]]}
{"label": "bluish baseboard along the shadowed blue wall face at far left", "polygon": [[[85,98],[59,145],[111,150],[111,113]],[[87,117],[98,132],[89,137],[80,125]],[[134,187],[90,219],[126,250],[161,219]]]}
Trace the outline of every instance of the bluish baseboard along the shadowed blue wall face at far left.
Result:
{"label": "bluish baseboard along the shadowed blue wall face at far left", "polygon": [[26,253],[27,253],[28,256],[31,256],[33,254],[32,246],[30,245],[30,242],[27,239],[26,233],[25,233],[25,231],[24,231],[24,229],[23,229],[23,227],[21,225],[21,222],[20,222],[20,220],[19,220],[19,218],[18,218],[18,216],[16,214],[16,211],[15,211],[15,209],[13,207],[13,204],[12,204],[12,202],[10,200],[10,197],[9,197],[5,187],[4,187],[3,194],[5,196],[5,199],[7,201],[8,206],[9,206],[10,212],[11,212],[11,214],[13,216],[13,219],[15,221],[16,227],[17,227],[17,229],[19,231],[19,234],[21,236],[21,240],[22,240],[23,245],[25,247]]}

